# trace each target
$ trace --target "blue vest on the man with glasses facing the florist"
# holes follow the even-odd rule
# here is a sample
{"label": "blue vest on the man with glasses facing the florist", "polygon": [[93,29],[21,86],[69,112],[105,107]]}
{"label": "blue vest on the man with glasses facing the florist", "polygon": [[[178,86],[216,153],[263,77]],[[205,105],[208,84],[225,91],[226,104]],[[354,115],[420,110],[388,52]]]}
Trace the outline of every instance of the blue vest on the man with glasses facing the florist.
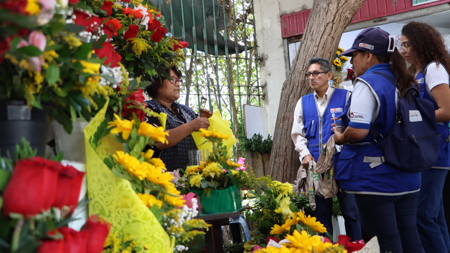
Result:
{"label": "blue vest on the man with glasses facing the florist", "polygon": [[327,109],[324,110],[321,116],[319,116],[314,93],[304,95],[301,98],[303,128],[305,129],[306,139],[308,139],[308,149],[316,161],[319,159],[323,144],[326,144],[331,135],[333,135],[333,131],[331,131],[332,114],[335,114],[335,118],[340,118],[344,114],[348,92],[343,89],[334,89],[328,100]]}

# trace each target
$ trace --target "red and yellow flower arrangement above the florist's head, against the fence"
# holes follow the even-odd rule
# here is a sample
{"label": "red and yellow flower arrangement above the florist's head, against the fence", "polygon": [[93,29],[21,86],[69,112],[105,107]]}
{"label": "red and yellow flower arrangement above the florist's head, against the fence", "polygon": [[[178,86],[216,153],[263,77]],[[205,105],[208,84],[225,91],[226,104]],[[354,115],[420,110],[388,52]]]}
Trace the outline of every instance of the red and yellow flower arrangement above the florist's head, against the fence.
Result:
{"label": "red and yellow flower arrangement above the florist's head, against the fence", "polygon": [[103,19],[103,26],[110,30],[114,52],[121,56],[130,77],[142,81],[141,86],[149,85],[158,76],[157,68],[169,68],[184,59],[179,49],[187,47],[187,43],[167,33],[164,17],[149,3],[142,0],[82,2]]}

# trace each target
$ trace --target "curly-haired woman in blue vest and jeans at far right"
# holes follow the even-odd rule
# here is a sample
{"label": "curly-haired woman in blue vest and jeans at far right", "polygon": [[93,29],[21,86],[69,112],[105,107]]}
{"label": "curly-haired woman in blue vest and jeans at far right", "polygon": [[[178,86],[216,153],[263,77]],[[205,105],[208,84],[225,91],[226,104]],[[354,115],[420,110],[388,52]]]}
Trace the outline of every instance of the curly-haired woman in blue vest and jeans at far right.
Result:
{"label": "curly-haired woman in blue vest and jeans at far right", "polygon": [[435,105],[437,130],[440,133],[437,162],[431,169],[422,172],[417,206],[419,235],[427,253],[450,252],[449,230],[442,204],[442,190],[450,169],[450,56],[441,34],[429,24],[406,24],[400,42],[400,52],[411,64],[410,74],[419,84],[421,97]]}

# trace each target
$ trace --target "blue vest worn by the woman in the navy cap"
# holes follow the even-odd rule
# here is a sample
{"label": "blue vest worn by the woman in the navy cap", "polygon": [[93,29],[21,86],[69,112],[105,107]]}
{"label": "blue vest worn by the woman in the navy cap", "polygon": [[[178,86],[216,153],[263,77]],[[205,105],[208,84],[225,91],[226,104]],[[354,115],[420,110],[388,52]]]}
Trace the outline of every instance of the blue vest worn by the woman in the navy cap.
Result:
{"label": "blue vest worn by the woman in the navy cap", "polygon": [[[389,64],[377,64],[359,77],[368,85],[377,100],[377,112],[373,125],[380,134],[387,136],[396,114],[396,88],[388,79],[370,72],[383,72],[393,77]],[[347,116],[351,118],[350,110]],[[417,192],[421,186],[421,174],[400,171],[387,163],[364,162],[365,157],[380,158],[383,152],[368,134],[361,141],[344,144],[334,160],[335,178],[340,188],[359,194],[398,195]]]}

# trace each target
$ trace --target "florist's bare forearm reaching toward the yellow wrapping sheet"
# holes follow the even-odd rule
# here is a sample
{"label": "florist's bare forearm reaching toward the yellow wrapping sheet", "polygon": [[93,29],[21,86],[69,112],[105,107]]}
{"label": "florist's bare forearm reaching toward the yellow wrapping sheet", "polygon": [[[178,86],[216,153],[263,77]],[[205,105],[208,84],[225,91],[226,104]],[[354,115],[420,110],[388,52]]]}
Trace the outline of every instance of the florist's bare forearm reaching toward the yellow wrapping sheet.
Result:
{"label": "florist's bare forearm reaching toward the yellow wrapping sheet", "polygon": [[209,127],[208,118],[198,117],[193,121],[189,121],[188,123],[184,123],[177,128],[173,128],[167,130],[169,132],[169,136],[167,136],[168,144],[163,144],[160,142],[156,143],[156,148],[159,150],[163,150],[166,148],[171,148],[172,146],[177,145],[182,139],[186,138],[188,135],[193,132],[197,132],[200,128],[207,129]]}

